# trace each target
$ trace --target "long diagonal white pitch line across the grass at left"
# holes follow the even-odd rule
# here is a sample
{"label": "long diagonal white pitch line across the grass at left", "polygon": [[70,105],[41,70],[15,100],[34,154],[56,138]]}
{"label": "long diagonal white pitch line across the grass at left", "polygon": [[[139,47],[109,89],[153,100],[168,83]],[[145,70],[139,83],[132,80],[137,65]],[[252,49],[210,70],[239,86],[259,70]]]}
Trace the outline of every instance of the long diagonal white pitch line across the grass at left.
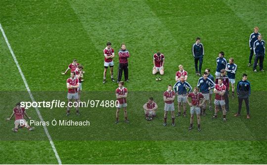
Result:
{"label": "long diagonal white pitch line across the grass at left", "polygon": [[[18,61],[17,61],[17,58],[16,58],[16,56],[15,56],[15,54],[14,54],[14,52],[13,52],[13,50],[12,50],[12,48],[11,48],[11,46],[10,46],[8,40],[7,40],[7,38],[6,38],[6,36],[5,36],[4,30],[3,30],[1,24],[0,24],[0,29],[1,29],[2,35],[3,35],[3,37],[4,37],[4,40],[5,40],[5,42],[6,42],[7,46],[8,46],[8,48],[9,48],[9,51],[10,51],[10,53],[11,53],[11,55],[12,55],[12,57],[13,57],[15,63],[16,63],[16,65],[17,65],[17,68],[18,68],[18,70],[19,70],[20,76],[21,76],[21,78],[22,78],[22,80],[23,80],[23,82],[24,82],[24,84],[25,84],[25,86],[26,86],[26,89],[27,89],[27,91],[28,91],[28,93],[29,93],[29,95],[30,95],[30,97],[31,97],[31,99],[32,99],[32,102],[35,102],[35,99],[34,99],[34,97],[33,97],[33,94],[32,94],[32,92],[31,92],[31,90],[30,90],[30,87],[29,87],[29,85],[28,85],[28,83],[27,83],[27,81],[26,81],[26,79],[25,79],[25,77],[24,77],[24,74],[23,74],[23,72],[22,72],[22,70],[21,70],[21,68],[20,68],[20,66],[19,66],[19,63],[18,63]],[[39,116],[39,118],[40,118],[40,121],[41,121],[41,122],[44,122],[44,119],[43,119],[43,117],[42,117],[42,115],[41,115],[39,109],[36,107],[35,110],[36,110],[36,112],[37,112],[37,114],[38,114],[38,116]],[[61,164],[62,164],[62,163],[61,163],[61,160],[60,160],[60,158],[59,158],[59,156],[58,156],[58,153],[57,153],[57,151],[56,151],[55,145],[54,145],[53,140],[52,140],[52,138],[51,138],[51,136],[50,136],[50,134],[49,134],[49,132],[48,132],[48,130],[47,130],[47,127],[46,127],[45,125],[43,125],[43,126],[44,126],[44,129],[45,129],[46,136],[47,136],[47,138],[48,138],[48,140],[49,140],[49,142],[50,142],[50,144],[51,144],[51,147],[52,147],[52,149],[53,149],[53,151],[54,151],[54,153],[55,153],[55,157],[56,157],[56,159],[57,159],[57,162],[58,162],[59,165],[61,165]]]}

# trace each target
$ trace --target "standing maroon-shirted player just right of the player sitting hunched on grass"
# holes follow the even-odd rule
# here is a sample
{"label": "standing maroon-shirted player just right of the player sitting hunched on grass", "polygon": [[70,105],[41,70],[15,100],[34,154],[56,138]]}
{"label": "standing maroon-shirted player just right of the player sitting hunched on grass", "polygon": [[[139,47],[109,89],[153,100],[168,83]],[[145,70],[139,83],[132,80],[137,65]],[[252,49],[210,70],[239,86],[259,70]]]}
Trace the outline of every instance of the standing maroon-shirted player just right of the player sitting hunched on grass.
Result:
{"label": "standing maroon-shirted player just right of the player sitting hunched on grass", "polygon": [[175,108],[174,108],[175,92],[172,90],[172,85],[171,84],[168,85],[167,91],[164,92],[163,99],[165,101],[163,126],[167,125],[167,114],[168,114],[168,111],[171,111],[171,114],[172,114],[172,125],[175,126]]}

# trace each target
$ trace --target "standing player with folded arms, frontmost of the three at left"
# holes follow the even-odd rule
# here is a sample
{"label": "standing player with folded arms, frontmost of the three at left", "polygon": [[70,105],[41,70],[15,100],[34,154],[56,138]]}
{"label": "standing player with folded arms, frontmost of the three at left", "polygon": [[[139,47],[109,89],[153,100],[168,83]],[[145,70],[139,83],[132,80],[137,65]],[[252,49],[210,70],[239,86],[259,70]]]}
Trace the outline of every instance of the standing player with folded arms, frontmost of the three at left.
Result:
{"label": "standing player with folded arms, frontmost of the three at left", "polygon": [[[72,100],[74,102],[78,102],[78,87],[79,87],[79,79],[75,77],[75,72],[71,73],[71,77],[67,79],[67,89],[68,89],[68,105],[67,105],[67,114],[66,116],[70,115],[70,104],[72,103]],[[79,107],[76,107],[76,115],[80,115],[79,113]]]}

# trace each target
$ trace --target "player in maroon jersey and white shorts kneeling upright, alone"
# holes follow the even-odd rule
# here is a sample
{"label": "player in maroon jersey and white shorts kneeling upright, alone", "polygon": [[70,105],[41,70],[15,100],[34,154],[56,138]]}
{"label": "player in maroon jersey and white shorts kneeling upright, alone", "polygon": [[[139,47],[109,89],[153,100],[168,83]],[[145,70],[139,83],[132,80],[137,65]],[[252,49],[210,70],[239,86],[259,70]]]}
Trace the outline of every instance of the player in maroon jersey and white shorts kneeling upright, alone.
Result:
{"label": "player in maroon jersey and white shorts kneeling upright, alone", "polygon": [[152,70],[152,74],[156,75],[158,72],[160,73],[160,75],[164,75],[164,54],[162,54],[161,52],[157,52],[156,54],[153,55],[153,70]]}

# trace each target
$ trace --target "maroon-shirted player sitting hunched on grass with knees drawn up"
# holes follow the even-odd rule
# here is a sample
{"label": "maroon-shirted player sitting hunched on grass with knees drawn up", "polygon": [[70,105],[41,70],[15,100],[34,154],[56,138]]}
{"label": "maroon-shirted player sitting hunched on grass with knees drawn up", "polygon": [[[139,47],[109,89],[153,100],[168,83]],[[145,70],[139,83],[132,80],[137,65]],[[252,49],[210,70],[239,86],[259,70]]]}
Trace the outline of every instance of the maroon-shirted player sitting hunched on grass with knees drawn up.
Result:
{"label": "maroon-shirted player sitting hunched on grass with knees drawn up", "polygon": [[153,120],[156,116],[158,105],[153,101],[153,97],[150,97],[148,102],[143,105],[145,119],[147,121]]}

